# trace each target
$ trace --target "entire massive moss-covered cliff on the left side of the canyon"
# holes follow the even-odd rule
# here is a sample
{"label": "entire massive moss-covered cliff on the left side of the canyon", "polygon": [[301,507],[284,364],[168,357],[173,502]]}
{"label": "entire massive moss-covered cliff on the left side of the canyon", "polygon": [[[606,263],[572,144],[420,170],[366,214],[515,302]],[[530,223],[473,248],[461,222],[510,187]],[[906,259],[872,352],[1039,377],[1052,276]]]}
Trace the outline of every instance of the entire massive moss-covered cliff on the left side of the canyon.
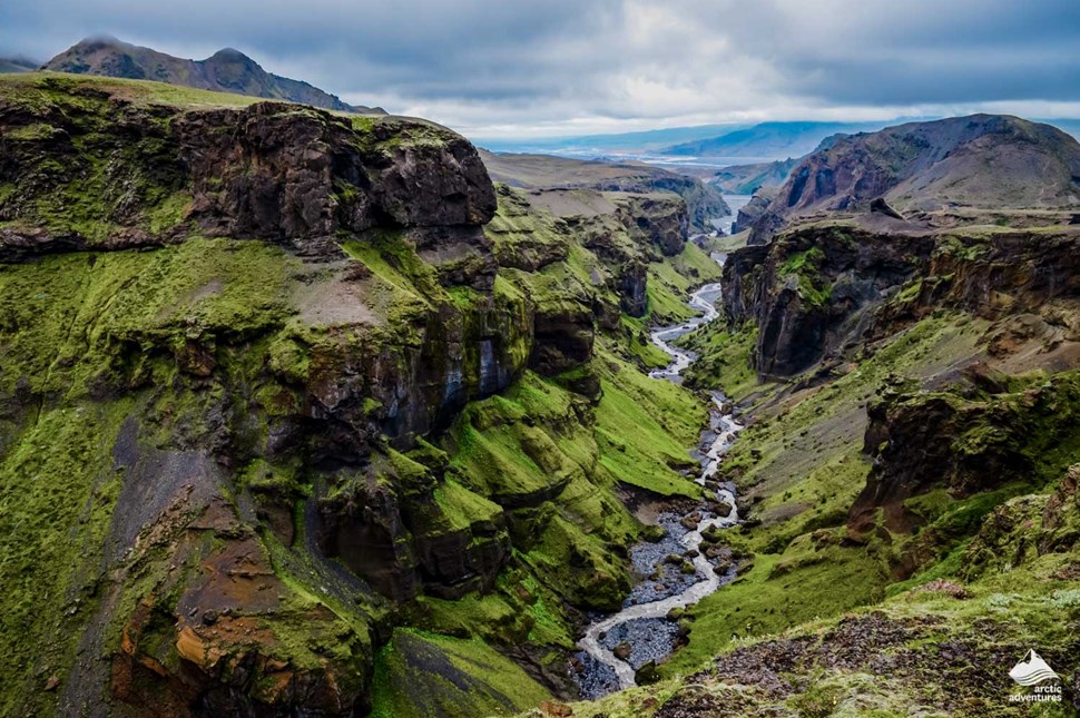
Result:
{"label": "entire massive moss-covered cliff on the left side of the canyon", "polygon": [[[629,587],[601,383],[685,206],[599,238],[438,126],[170,92],[0,86],[3,711],[362,712],[402,626],[561,650]],[[463,711],[544,695],[481,652]]]}

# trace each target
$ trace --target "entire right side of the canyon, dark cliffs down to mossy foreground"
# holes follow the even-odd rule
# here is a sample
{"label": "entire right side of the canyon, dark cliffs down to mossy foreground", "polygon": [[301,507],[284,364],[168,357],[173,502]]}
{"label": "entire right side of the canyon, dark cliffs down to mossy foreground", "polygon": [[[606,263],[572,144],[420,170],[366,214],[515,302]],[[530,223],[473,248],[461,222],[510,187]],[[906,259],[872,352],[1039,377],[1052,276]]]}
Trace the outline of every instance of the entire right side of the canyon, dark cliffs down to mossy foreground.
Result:
{"label": "entire right side of the canyon, dark cliffs down to mossy foreground", "polygon": [[[638,687],[557,715],[1076,715],[1078,258],[1074,225],[851,219],[734,252],[726,319],[679,342],[746,424],[711,537],[737,578]],[[1009,677],[1032,648],[1044,711]]]}

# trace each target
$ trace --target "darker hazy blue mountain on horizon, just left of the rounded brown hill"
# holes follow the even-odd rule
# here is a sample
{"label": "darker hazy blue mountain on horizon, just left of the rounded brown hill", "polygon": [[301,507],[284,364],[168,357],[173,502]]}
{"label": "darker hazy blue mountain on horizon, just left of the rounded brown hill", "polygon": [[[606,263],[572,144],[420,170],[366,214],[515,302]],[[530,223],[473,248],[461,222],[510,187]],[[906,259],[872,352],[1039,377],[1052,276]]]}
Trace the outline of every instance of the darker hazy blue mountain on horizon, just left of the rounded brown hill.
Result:
{"label": "darker hazy blue mountain on horizon, just left of the rounded brown hill", "polygon": [[832,135],[873,131],[887,122],[762,122],[719,137],[667,147],[667,155],[785,159],[814,151]]}

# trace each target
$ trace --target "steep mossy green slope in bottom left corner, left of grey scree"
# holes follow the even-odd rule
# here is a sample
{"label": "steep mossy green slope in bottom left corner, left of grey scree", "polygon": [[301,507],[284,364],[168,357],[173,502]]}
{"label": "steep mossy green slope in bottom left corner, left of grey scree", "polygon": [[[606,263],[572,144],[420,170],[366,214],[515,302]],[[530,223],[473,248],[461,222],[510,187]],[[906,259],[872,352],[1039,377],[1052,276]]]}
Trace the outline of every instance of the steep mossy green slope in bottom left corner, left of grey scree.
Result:
{"label": "steep mossy green slope in bottom left corner, left of grey scree", "polygon": [[[112,444],[127,401],[33,411],[0,456],[0,712],[48,705],[97,601],[101,551],[122,472]],[[32,649],[31,649],[32,647]],[[52,712],[41,706],[41,712]]]}

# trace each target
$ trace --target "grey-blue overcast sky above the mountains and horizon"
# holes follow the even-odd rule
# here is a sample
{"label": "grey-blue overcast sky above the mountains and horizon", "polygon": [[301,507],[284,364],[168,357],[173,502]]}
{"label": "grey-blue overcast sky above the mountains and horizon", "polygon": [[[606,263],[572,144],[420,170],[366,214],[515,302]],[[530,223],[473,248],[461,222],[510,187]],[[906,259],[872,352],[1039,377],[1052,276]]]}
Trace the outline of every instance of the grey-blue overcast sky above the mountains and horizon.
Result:
{"label": "grey-blue overcast sky above the mountains and horizon", "polygon": [[1080,117],[1078,0],[0,0],[0,56],[235,47],[473,137],[766,119]]}

